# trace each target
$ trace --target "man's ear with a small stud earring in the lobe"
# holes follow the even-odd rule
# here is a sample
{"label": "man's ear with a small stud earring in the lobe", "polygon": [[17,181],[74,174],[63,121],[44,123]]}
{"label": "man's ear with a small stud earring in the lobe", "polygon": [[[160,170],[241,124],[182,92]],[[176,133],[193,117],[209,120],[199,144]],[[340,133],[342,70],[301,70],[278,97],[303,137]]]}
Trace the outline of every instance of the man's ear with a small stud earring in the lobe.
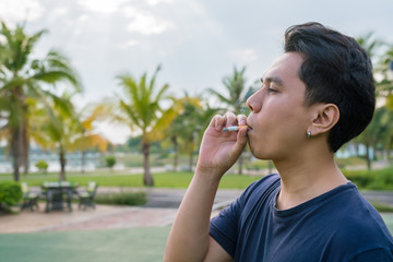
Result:
{"label": "man's ear with a small stud earring in the lobe", "polygon": [[313,108],[313,118],[307,132],[311,135],[327,133],[338,121],[340,110],[334,104],[318,104]]}

